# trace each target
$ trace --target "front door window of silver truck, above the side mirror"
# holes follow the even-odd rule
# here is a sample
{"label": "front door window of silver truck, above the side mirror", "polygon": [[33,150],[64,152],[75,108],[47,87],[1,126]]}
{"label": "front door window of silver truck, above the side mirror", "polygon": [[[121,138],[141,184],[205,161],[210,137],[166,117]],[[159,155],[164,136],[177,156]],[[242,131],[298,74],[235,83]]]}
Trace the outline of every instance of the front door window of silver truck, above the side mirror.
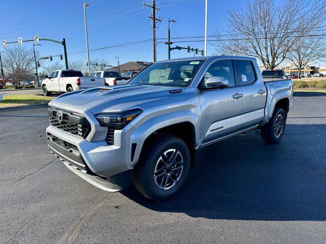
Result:
{"label": "front door window of silver truck, above the side mirror", "polygon": [[234,71],[231,60],[218,60],[213,63],[204,75],[204,81],[209,77],[223,77],[228,79],[229,87],[235,86]]}

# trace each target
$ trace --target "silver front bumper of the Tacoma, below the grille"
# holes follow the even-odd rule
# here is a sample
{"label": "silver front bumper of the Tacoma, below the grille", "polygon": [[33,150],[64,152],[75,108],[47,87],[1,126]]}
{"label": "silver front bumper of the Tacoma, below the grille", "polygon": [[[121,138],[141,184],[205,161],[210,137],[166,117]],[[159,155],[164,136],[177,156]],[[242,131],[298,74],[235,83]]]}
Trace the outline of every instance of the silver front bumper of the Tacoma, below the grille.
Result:
{"label": "silver front bumper of the Tacoma, below the grille", "polygon": [[[122,131],[115,133],[119,138],[124,134]],[[126,146],[121,143],[117,146],[107,145],[105,141],[89,142],[53,126],[46,129],[46,135],[51,153],[92,185],[116,192],[131,184],[132,168],[127,163]]]}

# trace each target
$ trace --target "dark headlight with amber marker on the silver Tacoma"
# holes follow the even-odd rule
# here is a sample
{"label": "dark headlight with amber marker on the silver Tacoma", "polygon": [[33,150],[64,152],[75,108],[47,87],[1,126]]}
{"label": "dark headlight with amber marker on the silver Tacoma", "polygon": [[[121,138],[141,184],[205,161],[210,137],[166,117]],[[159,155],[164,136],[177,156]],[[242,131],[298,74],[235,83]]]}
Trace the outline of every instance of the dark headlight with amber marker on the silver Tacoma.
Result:
{"label": "dark headlight with amber marker on the silver Tacoma", "polygon": [[141,109],[133,109],[125,112],[99,113],[95,117],[102,127],[122,130],[142,111]]}

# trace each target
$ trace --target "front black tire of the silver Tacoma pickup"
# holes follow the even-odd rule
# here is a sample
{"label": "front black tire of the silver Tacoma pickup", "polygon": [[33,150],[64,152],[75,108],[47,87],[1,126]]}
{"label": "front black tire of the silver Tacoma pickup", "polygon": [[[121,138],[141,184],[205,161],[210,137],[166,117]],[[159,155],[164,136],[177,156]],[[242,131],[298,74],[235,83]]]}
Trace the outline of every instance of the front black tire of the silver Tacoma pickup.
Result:
{"label": "front black tire of the silver Tacoma pickup", "polygon": [[[142,193],[144,196],[152,199],[152,200],[165,200],[173,196],[176,192],[179,191],[179,189],[182,187],[188,171],[189,171],[189,165],[191,156],[189,153],[189,149],[185,142],[181,140],[179,137],[176,136],[170,136],[170,135],[162,135],[157,136],[153,138],[150,142],[147,143],[148,146],[145,146],[145,148],[142,151],[141,158],[138,162],[138,164],[133,169],[133,184],[134,186]],[[175,149],[176,152],[179,152],[181,156],[178,153],[175,153],[175,151],[170,151],[167,155],[170,157],[171,153],[177,155],[178,161],[181,162],[181,159],[183,159],[183,168],[180,168],[180,166],[175,167],[176,165],[166,164],[170,165],[170,170],[168,169],[168,166],[165,167],[164,176],[166,177],[170,182],[168,184],[165,184],[166,181],[163,180],[163,178],[156,178],[156,181],[165,181],[164,182],[164,188],[168,188],[166,186],[170,186],[169,189],[162,189],[159,188],[157,185],[158,183],[155,181],[155,169],[157,167],[157,164],[162,164],[162,161],[159,161],[160,157],[164,155],[167,151]],[[170,154],[170,155],[169,155]],[[172,157],[171,157],[172,158]],[[177,159],[176,159],[177,160]],[[159,162],[159,163],[158,163]],[[179,163],[176,163],[179,164]],[[174,168],[171,168],[172,167]],[[174,170],[174,171],[173,171]],[[181,173],[180,171],[181,170]],[[173,171],[173,172],[172,172]],[[171,176],[166,176],[166,172],[171,172]],[[177,172],[177,173],[175,173]],[[177,175],[180,173],[179,178],[177,179]],[[169,174],[169,173],[168,173]],[[165,178],[165,179],[166,179]],[[174,180],[177,180],[176,182],[172,182]],[[173,185],[174,184],[174,185]]]}

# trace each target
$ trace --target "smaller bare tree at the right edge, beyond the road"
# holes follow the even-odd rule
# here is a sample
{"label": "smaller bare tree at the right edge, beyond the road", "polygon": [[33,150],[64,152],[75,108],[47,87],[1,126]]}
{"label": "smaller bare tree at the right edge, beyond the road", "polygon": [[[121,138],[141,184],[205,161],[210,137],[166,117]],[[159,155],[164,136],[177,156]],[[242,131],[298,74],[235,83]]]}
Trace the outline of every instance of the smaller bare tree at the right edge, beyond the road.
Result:
{"label": "smaller bare tree at the right edge, beyond the road", "polygon": [[298,70],[298,78],[306,66],[326,57],[325,42],[321,38],[302,38],[296,42],[287,54],[287,59]]}

